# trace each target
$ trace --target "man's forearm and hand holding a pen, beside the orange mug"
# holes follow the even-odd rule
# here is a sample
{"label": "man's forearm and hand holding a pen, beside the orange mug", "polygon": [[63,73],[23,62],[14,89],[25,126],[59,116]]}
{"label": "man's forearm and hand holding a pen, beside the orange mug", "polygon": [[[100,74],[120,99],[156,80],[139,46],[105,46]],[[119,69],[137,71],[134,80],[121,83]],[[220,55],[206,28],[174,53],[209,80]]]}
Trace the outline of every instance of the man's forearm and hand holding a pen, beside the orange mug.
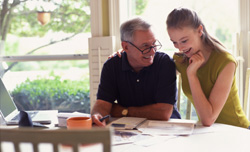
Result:
{"label": "man's forearm and hand holding a pen, beside the orange mug", "polygon": [[105,126],[106,121],[104,120],[103,122],[100,122],[99,119],[106,115],[109,115],[111,108],[111,103],[104,100],[97,100],[91,112],[92,122],[97,126]]}

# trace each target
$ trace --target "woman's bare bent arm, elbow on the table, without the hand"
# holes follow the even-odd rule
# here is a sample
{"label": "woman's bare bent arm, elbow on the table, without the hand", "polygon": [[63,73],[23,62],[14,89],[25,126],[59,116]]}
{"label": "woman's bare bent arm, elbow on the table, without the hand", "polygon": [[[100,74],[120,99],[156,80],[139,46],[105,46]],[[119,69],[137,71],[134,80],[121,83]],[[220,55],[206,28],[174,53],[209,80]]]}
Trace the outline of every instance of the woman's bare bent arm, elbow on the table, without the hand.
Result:
{"label": "woman's bare bent arm, elbow on the table, without the hand", "polygon": [[225,66],[219,74],[208,99],[203,93],[196,74],[188,74],[188,81],[194,100],[194,106],[203,125],[212,125],[224,107],[232,86],[235,66],[235,63],[233,62],[230,62]]}

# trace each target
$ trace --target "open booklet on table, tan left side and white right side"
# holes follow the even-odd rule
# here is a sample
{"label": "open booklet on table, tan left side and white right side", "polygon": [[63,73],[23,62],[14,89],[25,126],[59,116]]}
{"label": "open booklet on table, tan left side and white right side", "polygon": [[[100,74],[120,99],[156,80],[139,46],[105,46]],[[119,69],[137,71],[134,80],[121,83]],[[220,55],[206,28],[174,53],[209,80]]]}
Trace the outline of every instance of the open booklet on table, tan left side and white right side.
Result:
{"label": "open booklet on table, tan left side and white right side", "polygon": [[108,126],[115,130],[138,129],[142,134],[149,135],[190,135],[193,133],[196,121],[185,119],[147,120],[138,117],[122,117]]}

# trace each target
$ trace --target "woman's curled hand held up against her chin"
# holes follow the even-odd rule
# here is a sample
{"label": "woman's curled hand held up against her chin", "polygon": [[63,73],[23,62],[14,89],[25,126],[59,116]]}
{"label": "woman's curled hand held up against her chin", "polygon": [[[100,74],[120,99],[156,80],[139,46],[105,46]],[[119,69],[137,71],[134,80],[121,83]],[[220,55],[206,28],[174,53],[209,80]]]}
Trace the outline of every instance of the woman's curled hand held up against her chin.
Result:
{"label": "woman's curled hand held up against her chin", "polygon": [[196,54],[189,58],[189,66],[187,68],[187,75],[196,75],[197,70],[205,62],[205,58],[201,51],[198,51]]}

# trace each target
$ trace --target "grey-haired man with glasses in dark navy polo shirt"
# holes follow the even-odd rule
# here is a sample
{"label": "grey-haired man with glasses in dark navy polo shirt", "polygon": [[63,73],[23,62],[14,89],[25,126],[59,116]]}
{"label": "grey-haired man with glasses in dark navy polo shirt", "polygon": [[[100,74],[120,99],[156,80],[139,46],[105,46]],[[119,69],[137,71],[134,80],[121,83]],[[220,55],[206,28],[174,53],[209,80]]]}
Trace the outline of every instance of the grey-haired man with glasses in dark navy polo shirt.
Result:
{"label": "grey-haired man with glasses in dark navy polo shirt", "polygon": [[[92,120],[97,126],[105,115],[168,120],[180,118],[176,102],[176,69],[162,52],[151,25],[140,18],[121,25],[124,52],[103,66]],[[117,100],[117,103],[115,102]],[[172,115],[172,116],[171,116]]]}

